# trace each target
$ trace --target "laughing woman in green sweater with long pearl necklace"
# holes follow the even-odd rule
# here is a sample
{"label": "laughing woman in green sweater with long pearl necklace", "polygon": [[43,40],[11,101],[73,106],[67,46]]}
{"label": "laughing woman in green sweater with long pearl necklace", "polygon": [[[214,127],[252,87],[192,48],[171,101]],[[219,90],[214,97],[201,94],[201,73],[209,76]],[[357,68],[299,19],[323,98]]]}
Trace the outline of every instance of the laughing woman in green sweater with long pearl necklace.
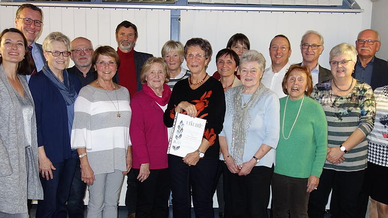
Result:
{"label": "laughing woman in green sweater with long pearl necklace", "polygon": [[293,65],[282,82],[280,139],[272,176],[273,217],[306,217],[310,192],[319,184],[327,154],[327,121],[307,67]]}

